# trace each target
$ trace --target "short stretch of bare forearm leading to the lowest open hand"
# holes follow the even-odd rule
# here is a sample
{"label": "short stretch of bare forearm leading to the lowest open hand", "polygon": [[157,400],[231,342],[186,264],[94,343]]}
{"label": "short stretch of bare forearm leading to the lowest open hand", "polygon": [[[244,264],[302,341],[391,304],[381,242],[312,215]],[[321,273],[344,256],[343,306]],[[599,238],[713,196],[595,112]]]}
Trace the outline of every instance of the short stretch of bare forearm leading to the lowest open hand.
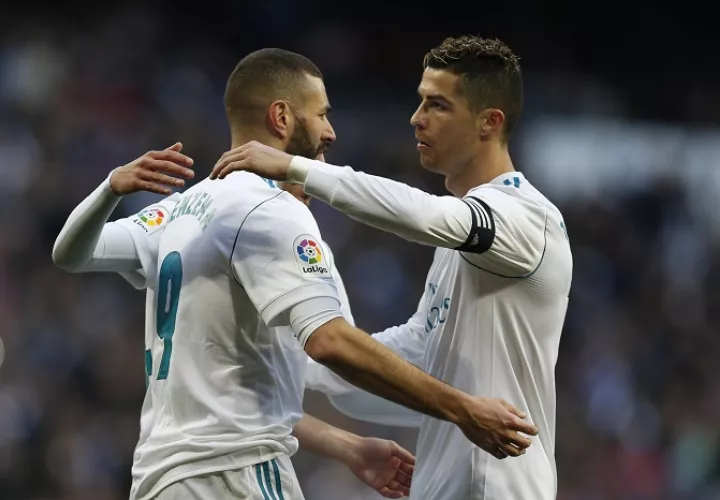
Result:
{"label": "short stretch of bare forearm leading to the lowest open hand", "polygon": [[342,463],[349,462],[353,449],[362,439],[308,414],[295,424],[293,435],[305,451]]}

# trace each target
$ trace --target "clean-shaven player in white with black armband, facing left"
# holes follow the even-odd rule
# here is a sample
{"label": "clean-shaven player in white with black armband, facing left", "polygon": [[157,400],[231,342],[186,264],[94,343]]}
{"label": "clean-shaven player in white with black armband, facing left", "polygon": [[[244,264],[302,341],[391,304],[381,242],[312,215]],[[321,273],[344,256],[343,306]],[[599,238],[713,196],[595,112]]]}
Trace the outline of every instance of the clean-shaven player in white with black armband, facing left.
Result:
{"label": "clean-shaven player in white with black armband, facing left", "polygon": [[508,152],[522,108],[518,58],[499,40],[462,36],[432,49],[423,66],[411,119],[420,162],[444,175],[454,196],[257,143],[225,153],[211,177],[248,170],[287,179],[358,221],[439,247],[417,313],[374,337],[470,394],[519,404],[539,439],[519,459],[498,461],[452,425],[424,417],[410,497],[550,500],[554,369],[572,255],[561,213]]}

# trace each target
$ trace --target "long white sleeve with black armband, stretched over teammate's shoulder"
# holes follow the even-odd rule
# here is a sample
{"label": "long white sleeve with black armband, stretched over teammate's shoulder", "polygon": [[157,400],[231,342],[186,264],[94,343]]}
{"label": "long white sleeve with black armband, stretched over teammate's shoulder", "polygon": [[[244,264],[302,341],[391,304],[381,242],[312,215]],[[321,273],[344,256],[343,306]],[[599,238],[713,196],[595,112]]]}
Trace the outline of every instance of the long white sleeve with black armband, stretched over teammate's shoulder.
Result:
{"label": "long white sleeve with black armband, stretched over teammate's shoulder", "polygon": [[434,196],[383,177],[294,157],[289,180],[353,219],[409,241],[460,250],[474,265],[505,277],[523,277],[545,249],[546,210],[483,185],[463,198]]}

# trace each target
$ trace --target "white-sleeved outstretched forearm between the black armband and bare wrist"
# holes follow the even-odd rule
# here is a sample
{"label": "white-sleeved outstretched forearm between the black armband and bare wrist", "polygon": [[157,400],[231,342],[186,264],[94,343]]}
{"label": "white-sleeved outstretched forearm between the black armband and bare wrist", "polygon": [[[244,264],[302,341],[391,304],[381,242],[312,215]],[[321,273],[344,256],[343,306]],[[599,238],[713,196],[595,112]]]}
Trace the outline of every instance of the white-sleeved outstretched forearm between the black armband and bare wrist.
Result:
{"label": "white-sleeved outstretched forearm between the black armband and bare wrist", "polygon": [[470,233],[470,210],[453,196],[301,157],[293,158],[288,179],[353,219],[409,241],[457,248]]}

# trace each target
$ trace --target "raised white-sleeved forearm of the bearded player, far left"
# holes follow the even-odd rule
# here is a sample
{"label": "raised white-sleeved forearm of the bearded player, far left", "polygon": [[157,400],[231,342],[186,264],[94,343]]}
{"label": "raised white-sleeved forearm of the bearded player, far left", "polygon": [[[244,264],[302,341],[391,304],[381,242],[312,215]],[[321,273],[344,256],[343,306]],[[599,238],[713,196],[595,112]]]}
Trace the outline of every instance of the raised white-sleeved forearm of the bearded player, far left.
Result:
{"label": "raised white-sleeved forearm of the bearded player, far left", "polygon": [[121,197],[105,180],[70,213],[53,246],[56,265],[69,271],[81,271],[92,260],[103,227]]}

